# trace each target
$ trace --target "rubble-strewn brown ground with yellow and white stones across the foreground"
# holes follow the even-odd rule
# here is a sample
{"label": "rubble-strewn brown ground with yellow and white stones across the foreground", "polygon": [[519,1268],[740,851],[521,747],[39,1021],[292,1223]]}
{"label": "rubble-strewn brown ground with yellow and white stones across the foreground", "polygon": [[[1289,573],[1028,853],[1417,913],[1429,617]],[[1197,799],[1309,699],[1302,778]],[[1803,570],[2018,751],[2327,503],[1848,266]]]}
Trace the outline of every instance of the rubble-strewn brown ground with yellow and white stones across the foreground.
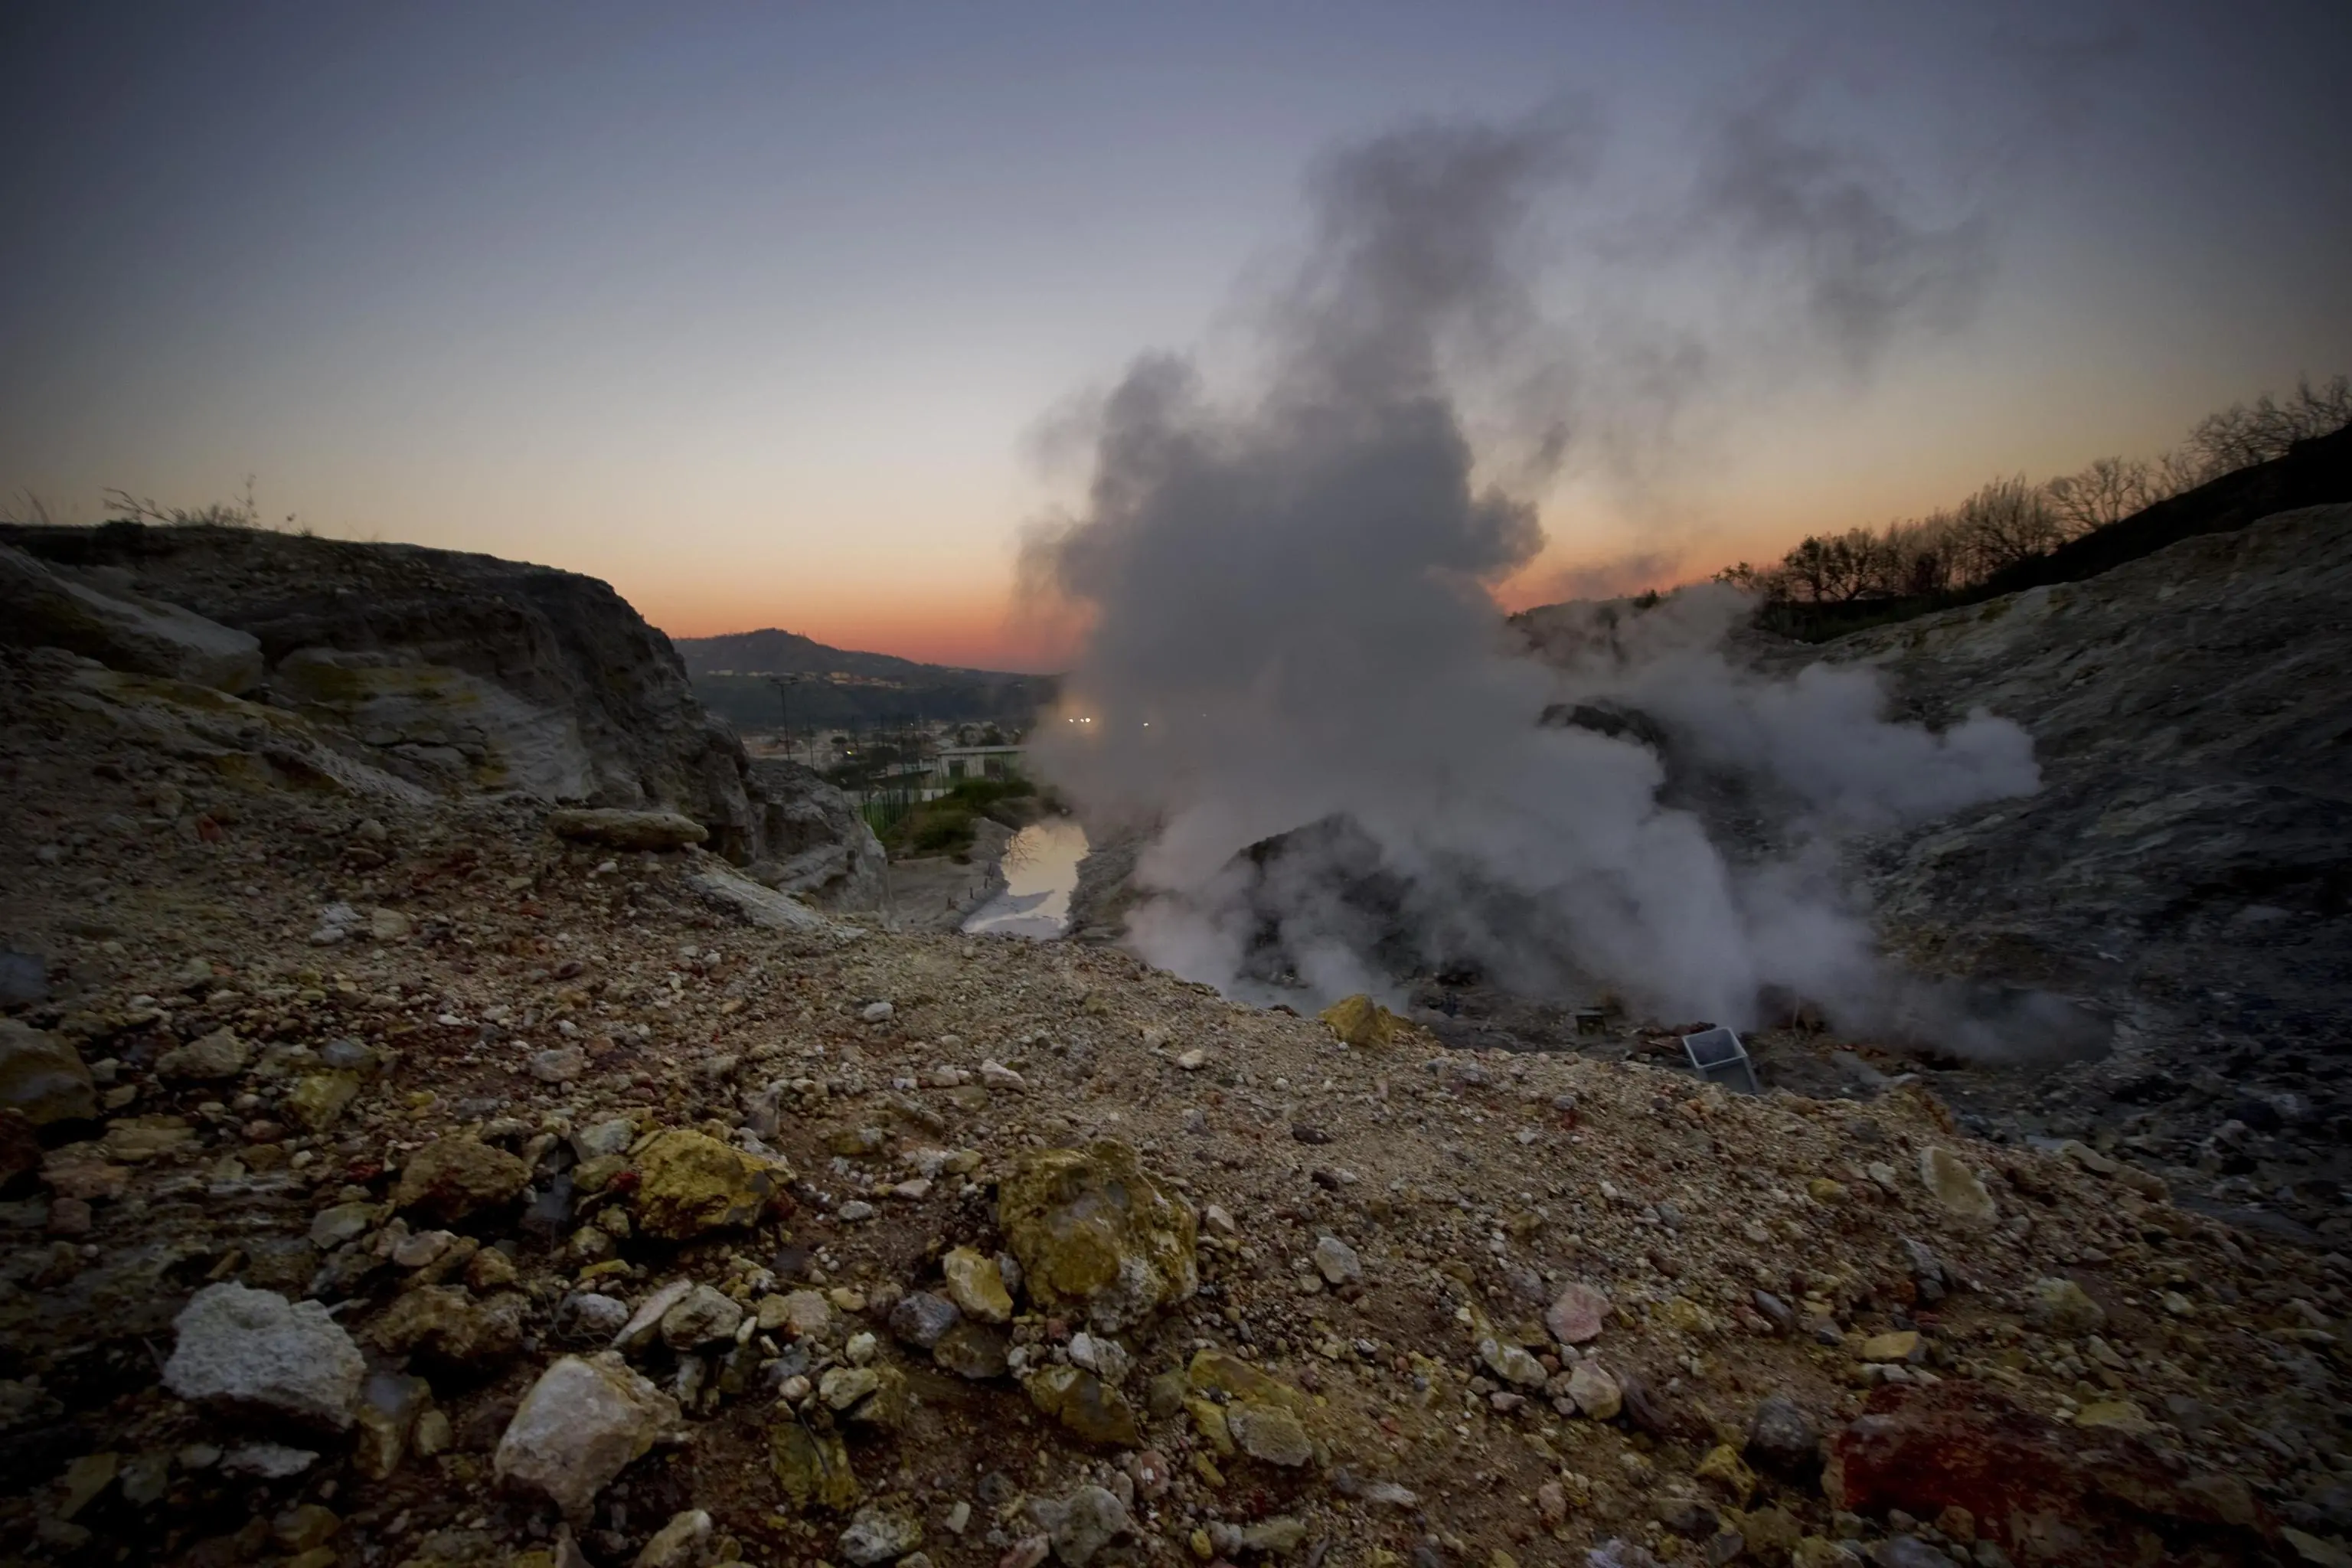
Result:
{"label": "rubble-strewn brown ground with yellow and white stones across the foreground", "polygon": [[1345,1044],[143,701],[0,656],[9,1561],[2347,1561],[2352,1265],[2093,1147]]}

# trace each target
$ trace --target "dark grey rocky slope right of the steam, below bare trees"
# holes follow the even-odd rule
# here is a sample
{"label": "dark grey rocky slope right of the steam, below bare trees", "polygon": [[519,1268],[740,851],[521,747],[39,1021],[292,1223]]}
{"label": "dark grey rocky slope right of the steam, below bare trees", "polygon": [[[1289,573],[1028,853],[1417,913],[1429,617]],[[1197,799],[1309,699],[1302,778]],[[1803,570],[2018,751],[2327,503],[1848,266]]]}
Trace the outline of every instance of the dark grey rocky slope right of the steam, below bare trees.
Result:
{"label": "dark grey rocky slope right of the steam, below bare trees", "polygon": [[[2079,999],[2114,1048],[1969,1098],[2105,1126],[2180,1187],[2352,1234],[2352,508],[2187,538],[1780,663],[1875,665],[1905,717],[1992,708],[2042,788],[1858,867],[1922,969]],[[1962,1079],[1952,1079],[1959,1088]],[[2030,1098],[2027,1098],[2030,1093]],[[2258,1206],[2258,1208],[2251,1208]]]}

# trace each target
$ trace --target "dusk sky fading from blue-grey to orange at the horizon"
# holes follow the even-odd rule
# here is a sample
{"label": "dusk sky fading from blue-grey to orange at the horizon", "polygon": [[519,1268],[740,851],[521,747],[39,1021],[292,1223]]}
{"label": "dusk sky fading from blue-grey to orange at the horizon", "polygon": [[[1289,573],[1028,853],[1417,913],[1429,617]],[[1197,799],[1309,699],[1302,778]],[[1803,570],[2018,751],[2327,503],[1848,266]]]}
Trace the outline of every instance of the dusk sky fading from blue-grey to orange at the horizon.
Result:
{"label": "dusk sky fading from blue-grey to orange at the horizon", "polygon": [[[1757,103],[1983,244],[1870,364],[1726,376],[1632,477],[1571,447],[1505,604],[2352,369],[2343,0],[21,2],[0,56],[9,510],[249,473],[268,517],[586,571],[673,635],[1054,665],[1011,597],[1082,480],[1054,433],[1143,350],[1247,376],[1303,174],[1414,120],[1599,118],[1548,277],[1588,317],[1578,268]],[[1705,331],[1752,284],[1715,256],[1639,310]]]}

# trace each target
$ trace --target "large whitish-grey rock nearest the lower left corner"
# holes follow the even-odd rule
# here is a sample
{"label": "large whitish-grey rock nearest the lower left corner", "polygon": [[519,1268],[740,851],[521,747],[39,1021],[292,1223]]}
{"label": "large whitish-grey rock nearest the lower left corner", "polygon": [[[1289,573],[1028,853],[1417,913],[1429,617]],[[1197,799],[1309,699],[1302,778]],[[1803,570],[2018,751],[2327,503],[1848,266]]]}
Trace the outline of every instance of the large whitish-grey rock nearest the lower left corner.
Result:
{"label": "large whitish-grey rock nearest the lower left corner", "polygon": [[174,1328],[162,1385],[181,1399],[336,1432],[350,1425],[367,1361],[318,1302],[223,1281],[198,1291]]}

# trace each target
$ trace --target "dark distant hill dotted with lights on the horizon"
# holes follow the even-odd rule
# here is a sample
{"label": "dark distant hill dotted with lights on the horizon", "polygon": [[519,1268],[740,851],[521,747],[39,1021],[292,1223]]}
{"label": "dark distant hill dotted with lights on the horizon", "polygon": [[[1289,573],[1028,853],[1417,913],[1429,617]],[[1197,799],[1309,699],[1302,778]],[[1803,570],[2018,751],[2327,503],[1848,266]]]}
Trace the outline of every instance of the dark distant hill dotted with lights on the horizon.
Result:
{"label": "dark distant hill dotted with lights on the horizon", "polygon": [[[1054,698],[1051,675],[924,665],[894,654],[833,649],[767,628],[724,637],[673,637],[694,696],[736,729],[776,729],[790,701],[793,729],[870,729],[917,719],[1028,726]],[[800,677],[790,698],[779,675]]]}

